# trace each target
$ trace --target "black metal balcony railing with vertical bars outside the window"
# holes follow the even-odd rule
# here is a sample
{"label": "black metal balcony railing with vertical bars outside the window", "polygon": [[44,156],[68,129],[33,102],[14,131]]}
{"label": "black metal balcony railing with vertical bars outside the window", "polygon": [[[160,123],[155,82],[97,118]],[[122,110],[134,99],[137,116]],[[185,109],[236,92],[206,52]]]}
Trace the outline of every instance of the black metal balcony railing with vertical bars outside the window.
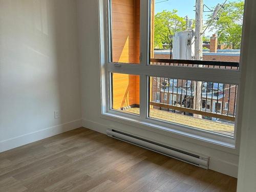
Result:
{"label": "black metal balcony railing with vertical bars outside the window", "polygon": [[[204,67],[238,70],[238,62],[151,59],[152,65]],[[237,85],[186,79],[151,78],[150,105],[185,115],[234,122]]]}

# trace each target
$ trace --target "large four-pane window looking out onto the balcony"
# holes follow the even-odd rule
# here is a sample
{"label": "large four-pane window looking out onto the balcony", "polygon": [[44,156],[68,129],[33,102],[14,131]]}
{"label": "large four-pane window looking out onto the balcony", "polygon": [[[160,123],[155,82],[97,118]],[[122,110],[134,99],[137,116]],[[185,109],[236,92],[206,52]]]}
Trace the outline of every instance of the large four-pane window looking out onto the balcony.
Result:
{"label": "large four-pane window looking out onto the balcony", "polygon": [[104,113],[234,141],[244,2],[186,2],[108,2]]}

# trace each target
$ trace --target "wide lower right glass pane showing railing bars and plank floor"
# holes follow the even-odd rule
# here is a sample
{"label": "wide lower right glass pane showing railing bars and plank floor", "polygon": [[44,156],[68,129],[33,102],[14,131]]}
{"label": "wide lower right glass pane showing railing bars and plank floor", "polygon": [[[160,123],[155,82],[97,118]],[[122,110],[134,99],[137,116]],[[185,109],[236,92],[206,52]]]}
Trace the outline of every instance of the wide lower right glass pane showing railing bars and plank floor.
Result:
{"label": "wide lower right glass pane showing railing bars and plank floor", "polygon": [[150,77],[150,114],[155,119],[233,136],[238,86]]}

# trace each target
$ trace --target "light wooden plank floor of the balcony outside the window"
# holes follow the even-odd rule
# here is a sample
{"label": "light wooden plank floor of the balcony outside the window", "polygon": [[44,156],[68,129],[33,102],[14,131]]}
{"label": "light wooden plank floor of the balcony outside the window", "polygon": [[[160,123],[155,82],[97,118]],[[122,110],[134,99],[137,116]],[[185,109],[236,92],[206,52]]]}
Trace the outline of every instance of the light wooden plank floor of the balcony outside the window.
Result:
{"label": "light wooden plank floor of the balcony outside the window", "polygon": [[[139,114],[139,108],[131,108],[124,110],[123,112]],[[190,117],[187,115],[181,115],[177,113],[171,113],[166,111],[161,111],[157,109],[150,109],[150,117],[165,120],[169,122],[174,122],[178,124],[183,124],[190,127],[195,127],[201,130],[207,130],[215,133],[220,133],[228,136],[233,136],[234,125],[229,123],[221,123],[206,119],[198,119],[195,117]]]}

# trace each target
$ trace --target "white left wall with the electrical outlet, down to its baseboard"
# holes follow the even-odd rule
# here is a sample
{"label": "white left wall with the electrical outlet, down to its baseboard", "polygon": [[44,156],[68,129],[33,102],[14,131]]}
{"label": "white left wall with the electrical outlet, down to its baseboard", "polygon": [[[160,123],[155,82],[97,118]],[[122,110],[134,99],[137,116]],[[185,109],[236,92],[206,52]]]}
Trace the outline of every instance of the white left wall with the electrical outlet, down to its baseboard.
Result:
{"label": "white left wall with the electrical outlet, down to its baseboard", "polygon": [[0,152],[81,126],[77,42],[75,1],[0,0]]}

